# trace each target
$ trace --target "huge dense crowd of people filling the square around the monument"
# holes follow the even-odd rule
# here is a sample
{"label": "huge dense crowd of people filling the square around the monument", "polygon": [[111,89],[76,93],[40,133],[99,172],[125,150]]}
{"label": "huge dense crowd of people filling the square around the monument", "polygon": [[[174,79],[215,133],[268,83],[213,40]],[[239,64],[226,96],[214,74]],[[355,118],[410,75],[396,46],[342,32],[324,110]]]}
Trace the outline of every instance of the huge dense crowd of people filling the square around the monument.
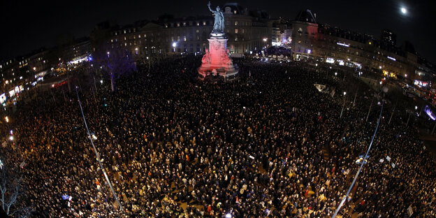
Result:
{"label": "huge dense crowd of people filling the square around the monument", "polygon": [[[233,82],[197,80],[201,60],[187,56],[138,66],[115,92],[108,80],[95,93],[78,85],[123,210],[75,91],[17,103],[14,140],[0,149],[3,167],[22,175],[15,208],[31,217],[332,217],[375,131],[381,107],[365,120],[371,91],[353,102],[340,94],[349,84],[314,66],[235,62]],[[390,115],[382,113],[342,217],[405,217],[408,208],[435,217],[435,157],[404,120],[388,124]]]}

